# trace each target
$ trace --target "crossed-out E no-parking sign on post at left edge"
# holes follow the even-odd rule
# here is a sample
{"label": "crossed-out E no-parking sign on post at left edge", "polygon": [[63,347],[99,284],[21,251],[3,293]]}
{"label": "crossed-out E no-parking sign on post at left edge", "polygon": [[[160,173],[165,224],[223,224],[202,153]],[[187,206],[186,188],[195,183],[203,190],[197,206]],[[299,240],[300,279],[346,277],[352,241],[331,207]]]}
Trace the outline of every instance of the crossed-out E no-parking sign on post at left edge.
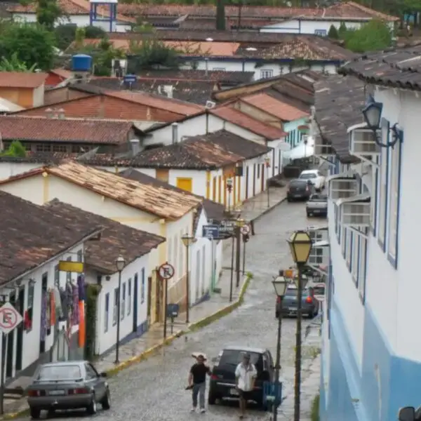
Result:
{"label": "crossed-out E no-parking sign on post at left edge", "polygon": [[[0,308],[1,332],[1,382],[0,382],[0,415],[4,414],[4,380],[6,377],[6,355],[8,348],[8,334],[22,322],[22,316],[10,302]],[[12,345],[13,346],[13,345]]]}

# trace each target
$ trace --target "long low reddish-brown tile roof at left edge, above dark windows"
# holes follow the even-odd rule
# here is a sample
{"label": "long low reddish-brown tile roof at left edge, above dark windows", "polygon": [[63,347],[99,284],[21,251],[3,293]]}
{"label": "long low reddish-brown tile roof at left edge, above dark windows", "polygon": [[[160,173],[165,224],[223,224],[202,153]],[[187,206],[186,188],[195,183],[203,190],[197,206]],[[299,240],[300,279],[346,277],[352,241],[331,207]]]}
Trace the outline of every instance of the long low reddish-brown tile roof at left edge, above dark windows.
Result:
{"label": "long low reddish-brown tile roof at left edge, above dark windows", "polygon": [[48,119],[46,117],[0,116],[3,140],[44,140],[120,144],[133,130],[130,121]]}

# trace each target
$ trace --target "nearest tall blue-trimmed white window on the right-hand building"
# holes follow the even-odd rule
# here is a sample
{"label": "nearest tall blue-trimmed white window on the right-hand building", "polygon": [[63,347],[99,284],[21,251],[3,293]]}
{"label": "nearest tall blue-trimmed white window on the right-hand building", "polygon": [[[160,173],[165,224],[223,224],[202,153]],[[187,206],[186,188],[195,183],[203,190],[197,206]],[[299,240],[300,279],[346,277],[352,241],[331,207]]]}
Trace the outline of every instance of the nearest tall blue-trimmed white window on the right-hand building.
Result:
{"label": "nearest tall blue-trimmed white window on the right-hand building", "polygon": [[401,142],[397,142],[389,151],[389,227],[387,254],[396,268],[399,213],[399,178],[401,171]]}

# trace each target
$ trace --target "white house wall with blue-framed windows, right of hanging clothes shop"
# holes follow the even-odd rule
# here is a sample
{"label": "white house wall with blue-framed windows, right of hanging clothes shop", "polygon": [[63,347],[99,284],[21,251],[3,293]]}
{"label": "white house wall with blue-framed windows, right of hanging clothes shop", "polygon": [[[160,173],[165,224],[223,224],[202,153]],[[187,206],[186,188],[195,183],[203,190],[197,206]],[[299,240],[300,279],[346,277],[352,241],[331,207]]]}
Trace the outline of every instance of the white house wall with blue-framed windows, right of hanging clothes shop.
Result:
{"label": "white house wall with blue-framed windows, right of hanging clothes shop", "polygon": [[[144,255],[129,263],[121,272],[121,314],[120,319],[120,340],[133,333],[133,328],[137,328],[147,321],[147,276],[150,273],[149,254]],[[135,297],[135,275],[138,276],[138,294]],[[131,284],[129,295],[129,281]],[[97,307],[97,338],[95,343],[95,354],[103,354],[116,345],[117,323],[113,323],[114,311],[114,291],[119,288],[119,274],[115,273],[107,281],[106,276],[102,276],[102,288],[98,297]],[[123,291],[126,296],[123,297]],[[106,312],[106,296],[108,298],[108,312]],[[123,312],[123,299],[124,312]],[[135,314],[135,302],[138,307]],[[121,316],[120,314],[120,316]],[[105,320],[108,317],[106,325]],[[107,329],[106,329],[107,326]]]}

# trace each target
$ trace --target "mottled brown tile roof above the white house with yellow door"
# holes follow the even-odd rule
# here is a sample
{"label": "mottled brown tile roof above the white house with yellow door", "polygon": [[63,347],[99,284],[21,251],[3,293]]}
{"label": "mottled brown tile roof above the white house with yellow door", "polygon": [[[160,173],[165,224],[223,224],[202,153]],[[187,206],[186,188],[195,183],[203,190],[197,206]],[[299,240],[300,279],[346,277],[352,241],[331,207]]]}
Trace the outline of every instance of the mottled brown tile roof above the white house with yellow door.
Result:
{"label": "mottled brown tile roof above the white house with yellow door", "polygon": [[221,168],[272,150],[225,130],[194,136],[175,145],[149,149],[136,155],[131,166],[145,168]]}

